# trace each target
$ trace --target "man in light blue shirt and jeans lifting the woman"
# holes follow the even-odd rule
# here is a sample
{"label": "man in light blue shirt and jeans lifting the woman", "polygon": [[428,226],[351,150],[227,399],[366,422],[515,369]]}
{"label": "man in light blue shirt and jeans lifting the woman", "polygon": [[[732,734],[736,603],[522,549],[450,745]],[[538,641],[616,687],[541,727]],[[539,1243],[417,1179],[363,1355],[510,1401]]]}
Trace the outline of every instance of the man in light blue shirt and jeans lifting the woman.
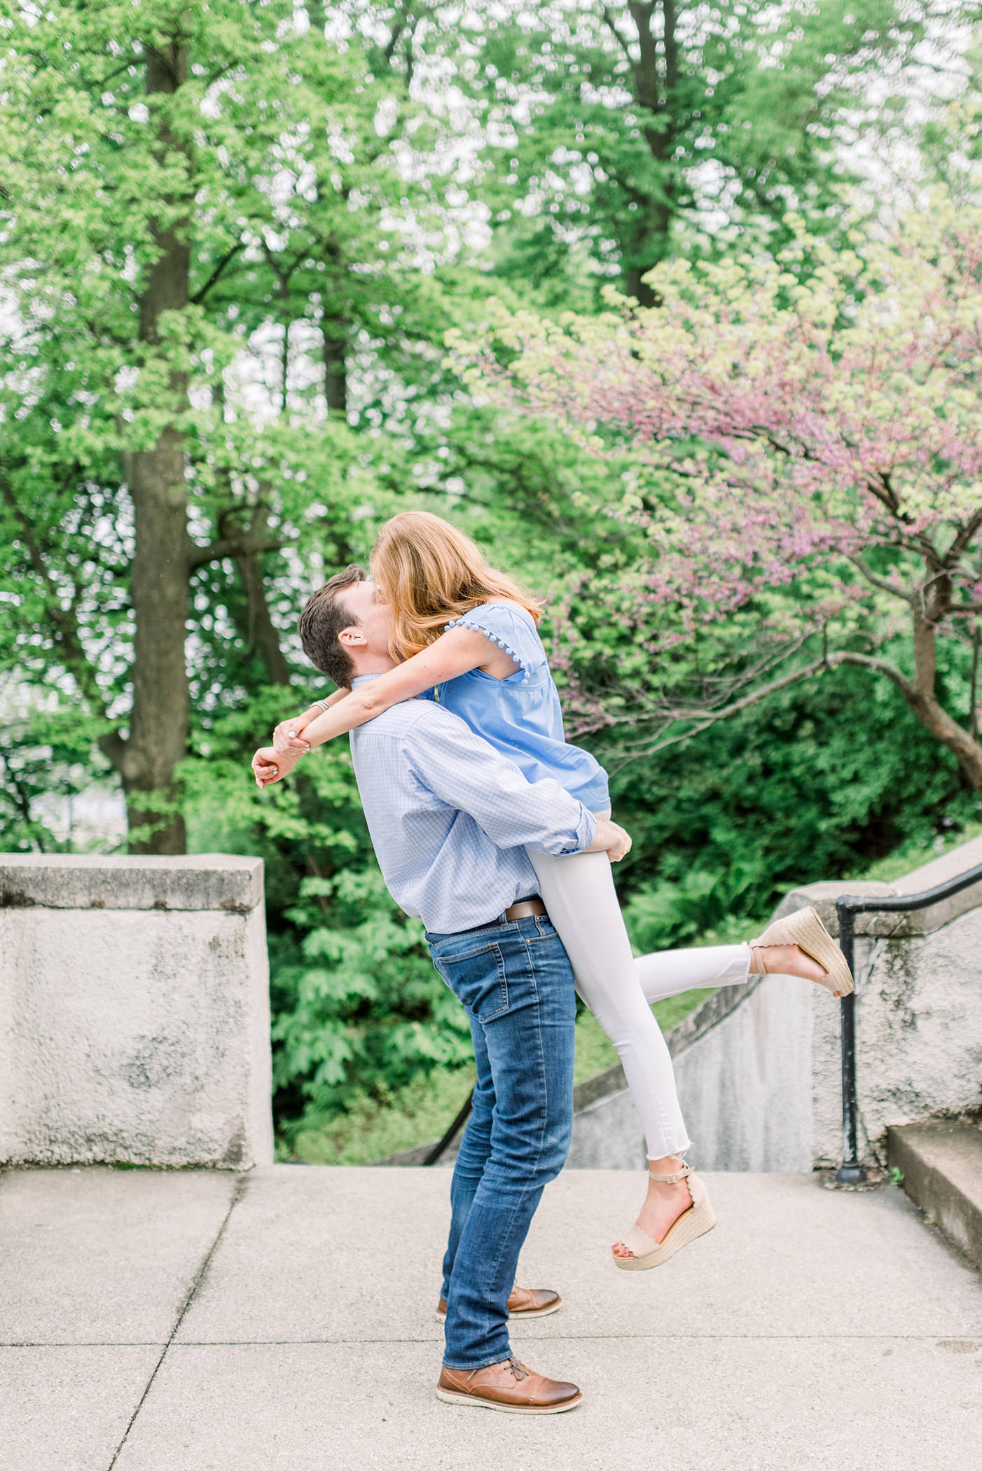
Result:
{"label": "man in light blue shirt and jeans lifting the woman", "polygon": [[[313,594],[300,633],[341,687],[394,668],[388,609],[362,568]],[[423,919],[434,964],[470,1018],[478,1064],[451,1180],[437,1395],[513,1414],[572,1409],[579,1389],[519,1364],[507,1333],[519,1250],[566,1161],[573,1096],[573,977],[525,849],[620,858],[629,838],[557,783],[528,783],[432,700],[406,700],[351,731],[351,753],[385,883]],[[265,786],[294,759],[268,747],[253,769]]]}

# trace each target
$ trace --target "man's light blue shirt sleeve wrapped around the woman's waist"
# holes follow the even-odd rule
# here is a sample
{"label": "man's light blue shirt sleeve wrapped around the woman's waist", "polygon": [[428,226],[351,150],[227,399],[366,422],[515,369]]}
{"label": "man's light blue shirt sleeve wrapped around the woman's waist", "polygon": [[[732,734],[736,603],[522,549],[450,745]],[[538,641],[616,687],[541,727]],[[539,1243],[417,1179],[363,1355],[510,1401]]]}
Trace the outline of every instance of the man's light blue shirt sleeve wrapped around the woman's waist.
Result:
{"label": "man's light blue shirt sleeve wrapped around the woman's waist", "polygon": [[428,791],[469,812],[498,847],[582,853],[598,836],[598,819],[582,802],[551,777],[526,781],[515,762],[450,710],[420,713],[406,733],[403,755]]}

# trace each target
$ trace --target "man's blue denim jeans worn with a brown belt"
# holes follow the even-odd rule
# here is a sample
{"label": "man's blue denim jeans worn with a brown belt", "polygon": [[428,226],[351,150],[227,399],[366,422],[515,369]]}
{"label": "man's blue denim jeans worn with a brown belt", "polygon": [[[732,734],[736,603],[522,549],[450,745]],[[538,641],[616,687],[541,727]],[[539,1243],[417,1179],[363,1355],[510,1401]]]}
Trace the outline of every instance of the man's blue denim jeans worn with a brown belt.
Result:
{"label": "man's blue denim jeans worn with a brown belt", "polygon": [[428,934],[434,965],[470,1018],[478,1086],[450,1186],[444,1364],[512,1353],[507,1299],[542,1189],[573,1121],[573,972],[544,915]]}

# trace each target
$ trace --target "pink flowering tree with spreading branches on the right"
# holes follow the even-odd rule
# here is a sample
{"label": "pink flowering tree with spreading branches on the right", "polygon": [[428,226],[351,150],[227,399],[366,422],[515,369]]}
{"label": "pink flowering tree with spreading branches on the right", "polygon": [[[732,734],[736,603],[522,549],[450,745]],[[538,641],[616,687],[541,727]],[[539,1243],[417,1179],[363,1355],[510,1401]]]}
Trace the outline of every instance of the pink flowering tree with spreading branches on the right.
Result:
{"label": "pink flowering tree with spreading branches on the right", "polygon": [[[581,699],[579,730],[626,725],[625,750],[650,752],[851,663],[982,791],[982,210],[938,194],[845,253],[800,234],[776,260],[648,279],[656,307],[492,306],[451,343],[472,388],[631,466],[598,510],[642,549],[619,588],[644,658],[635,697]],[[710,634],[729,669],[666,696]],[[939,640],[964,647],[961,690],[941,690]]]}

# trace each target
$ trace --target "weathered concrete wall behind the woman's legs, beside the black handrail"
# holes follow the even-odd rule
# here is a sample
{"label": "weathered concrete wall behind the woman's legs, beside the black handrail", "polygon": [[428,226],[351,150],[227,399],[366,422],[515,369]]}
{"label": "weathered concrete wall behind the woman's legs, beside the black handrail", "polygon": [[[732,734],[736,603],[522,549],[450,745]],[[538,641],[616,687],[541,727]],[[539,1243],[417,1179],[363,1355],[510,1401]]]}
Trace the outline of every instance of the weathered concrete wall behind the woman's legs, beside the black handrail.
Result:
{"label": "weathered concrete wall behind the woman's legs, beside the black handrail", "polygon": [[[894,884],[795,888],[836,933],[839,894],[913,894],[982,863],[963,843]],[[860,1156],[885,1155],[889,1125],[982,1106],[982,884],[910,915],[856,922]],[[669,1036],[691,1158],[704,1169],[811,1169],[842,1147],[839,1008],[807,981],[754,977],[703,1003]],[[644,1141],[623,1074],[584,1084],[570,1165],[639,1168]]]}

